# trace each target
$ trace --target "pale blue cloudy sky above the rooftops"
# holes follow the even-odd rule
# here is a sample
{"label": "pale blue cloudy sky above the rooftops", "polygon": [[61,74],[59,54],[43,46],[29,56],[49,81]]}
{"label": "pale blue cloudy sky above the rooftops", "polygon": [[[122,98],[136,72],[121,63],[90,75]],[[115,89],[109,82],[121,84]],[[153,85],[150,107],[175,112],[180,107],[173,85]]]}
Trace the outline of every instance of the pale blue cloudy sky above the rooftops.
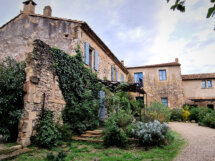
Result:
{"label": "pale blue cloudy sky above the rooftops", "polygon": [[[187,0],[186,12],[166,0],[34,0],[55,17],[82,20],[125,66],[173,62],[182,74],[215,72],[215,17],[206,19],[209,0]],[[23,0],[0,0],[0,26],[19,14]],[[174,0],[172,0],[172,3]]]}

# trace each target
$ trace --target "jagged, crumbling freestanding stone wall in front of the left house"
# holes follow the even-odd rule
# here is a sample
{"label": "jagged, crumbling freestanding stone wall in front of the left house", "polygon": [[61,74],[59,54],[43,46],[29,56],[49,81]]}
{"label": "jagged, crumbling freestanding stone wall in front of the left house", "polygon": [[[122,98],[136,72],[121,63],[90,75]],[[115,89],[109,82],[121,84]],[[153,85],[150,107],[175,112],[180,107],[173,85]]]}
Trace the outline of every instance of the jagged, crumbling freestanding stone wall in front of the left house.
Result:
{"label": "jagged, crumbling freestanding stone wall in front of the left house", "polygon": [[28,44],[26,51],[26,83],[24,90],[24,111],[19,124],[18,142],[23,146],[30,144],[41,109],[54,111],[55,120],[61,117],[65,106],[58,85],[58,77],[53,66],[50,47],[40,40]]}

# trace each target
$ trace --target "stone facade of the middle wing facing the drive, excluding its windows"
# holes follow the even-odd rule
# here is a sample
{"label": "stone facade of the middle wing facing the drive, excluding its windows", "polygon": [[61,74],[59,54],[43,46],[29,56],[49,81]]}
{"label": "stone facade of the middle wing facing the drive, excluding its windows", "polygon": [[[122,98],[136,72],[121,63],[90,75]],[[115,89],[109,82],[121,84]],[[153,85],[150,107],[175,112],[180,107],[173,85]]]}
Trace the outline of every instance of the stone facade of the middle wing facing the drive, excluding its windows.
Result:
{"label": "stone facade of the middle wing facing the drive, excluding its windows", "polygon": [[[143,88],[147,95],[144,102],[149,106],[152,102],[161,102],[167,98],[170,108],[181,108],[184,104],[180,64],[177,62],[128,68],[129,73],[143,73]],[[159,79],[159,70],[166,70],[167,79]],[[137,94],[133,94],[138,97]]]}

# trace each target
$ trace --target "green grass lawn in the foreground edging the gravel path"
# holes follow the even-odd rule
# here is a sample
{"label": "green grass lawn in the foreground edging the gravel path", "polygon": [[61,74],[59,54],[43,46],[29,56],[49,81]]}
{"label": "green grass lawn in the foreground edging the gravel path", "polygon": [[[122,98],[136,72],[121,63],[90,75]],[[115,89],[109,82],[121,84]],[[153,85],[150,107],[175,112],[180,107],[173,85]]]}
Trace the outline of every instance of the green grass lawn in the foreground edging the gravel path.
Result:
{"label": "green grass lawn in the foreground edging the gravel path", "polygon": [[15,161],[45,161],[47,153],[64,150],[67,153],[66,161],[171,161],[185,144],[184,139],[176,132],[172,132],[174,141],[164,147],[155,147],[145,151],[140,147],[128,149],[107,148],[100,144],[73,141],[70,146],[55,148],[52,151],[33,148],[32,153],[23,154]]}

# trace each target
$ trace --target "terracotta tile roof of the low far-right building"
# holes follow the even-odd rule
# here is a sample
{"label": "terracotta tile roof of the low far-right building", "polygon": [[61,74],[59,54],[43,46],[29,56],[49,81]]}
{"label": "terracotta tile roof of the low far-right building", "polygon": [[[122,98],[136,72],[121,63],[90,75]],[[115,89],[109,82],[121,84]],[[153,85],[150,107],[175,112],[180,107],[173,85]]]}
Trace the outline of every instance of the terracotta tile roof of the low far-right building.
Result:
{"label": "terracotta tile roof of the low far-right building", "polygon": [[202,79],[215,79],[215,73],[182,75],[182,80],[202,80]]}

